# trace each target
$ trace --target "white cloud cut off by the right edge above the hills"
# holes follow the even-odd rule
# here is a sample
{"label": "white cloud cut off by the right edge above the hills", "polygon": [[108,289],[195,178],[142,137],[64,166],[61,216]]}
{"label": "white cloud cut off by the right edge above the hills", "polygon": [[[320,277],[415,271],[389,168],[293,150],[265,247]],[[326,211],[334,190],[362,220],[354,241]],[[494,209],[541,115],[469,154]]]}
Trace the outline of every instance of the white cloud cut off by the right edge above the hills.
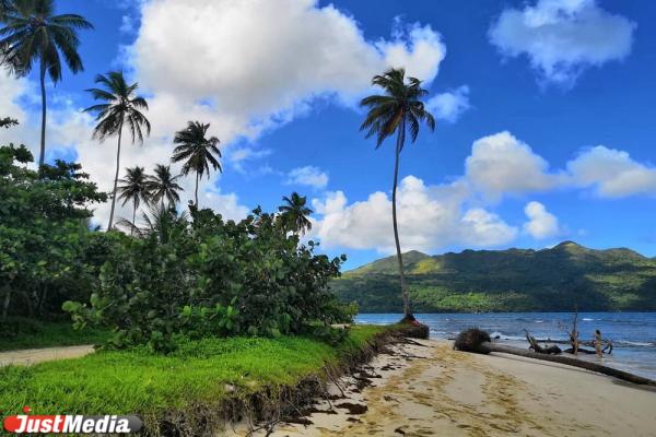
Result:
{"label": "white cloud cut off by the right edge above the hills", "polygon": [[567,170],[574,185],[595,187],[600,197],[656,196],[656,168],[616,149],[604,145],[589,149],[567,163]]}

